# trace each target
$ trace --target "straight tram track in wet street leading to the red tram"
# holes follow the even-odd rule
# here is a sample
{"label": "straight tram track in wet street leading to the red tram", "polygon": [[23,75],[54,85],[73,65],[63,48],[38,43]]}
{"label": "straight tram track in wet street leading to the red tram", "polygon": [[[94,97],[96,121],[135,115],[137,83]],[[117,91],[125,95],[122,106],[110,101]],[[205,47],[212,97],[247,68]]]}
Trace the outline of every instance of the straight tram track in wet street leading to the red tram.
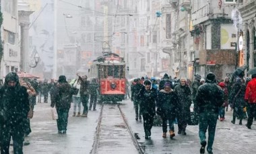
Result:
{"label": "straight tram track in wet street leading to the red tram", "polygon": [[108,151],[110,153],[143,153],[120,104],[102,104],[100,109],[91,153],[100,154]]}

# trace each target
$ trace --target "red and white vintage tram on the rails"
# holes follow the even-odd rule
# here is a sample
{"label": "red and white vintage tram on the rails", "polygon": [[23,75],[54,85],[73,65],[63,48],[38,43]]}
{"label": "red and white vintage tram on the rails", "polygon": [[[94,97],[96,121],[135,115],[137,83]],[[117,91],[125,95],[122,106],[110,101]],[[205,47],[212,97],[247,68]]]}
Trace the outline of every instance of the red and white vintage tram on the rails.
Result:
{"label": "red and white vintage tram on the rails", "polygon": [[107,53],[98,57],[92,62],[88,75],[100,84],[98,102],[125,98],[125,61],[119,55]]}

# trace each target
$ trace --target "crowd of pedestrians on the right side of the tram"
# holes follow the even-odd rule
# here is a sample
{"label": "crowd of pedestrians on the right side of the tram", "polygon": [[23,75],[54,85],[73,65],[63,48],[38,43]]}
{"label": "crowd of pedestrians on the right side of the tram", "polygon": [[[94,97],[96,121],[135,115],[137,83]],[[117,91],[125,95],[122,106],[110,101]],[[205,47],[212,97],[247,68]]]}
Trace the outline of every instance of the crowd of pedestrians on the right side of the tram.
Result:
{"label": "crowd of pedestrians on the right side of the tram", "polygon": [[[135,78],[131,83],[131,101],[135,108],[135,120],[142,121],[145,139],[149,139],[154,119],[162,120],[162,137],[175,136],[174,123],[178,124],[178,134],[187,135],[187,125],[199,125],[200,153],[213,153],[212,145],[217,121],[225,121],[228,106],[233,112],[231,123],[243,125],[251,129],[256,118],[256,74],[245,78],[245,72],[240,72],[232,78],[217,80],[210,72],[206,78],[200,74],[194,75],[193,82],[187,78],[172,79],[164,74],[161,80],[156,78]],[[190,110],[193,103],[193,116]],[[169,130],[167,124],[169,123]],[[208,132],[208,135],[205,135]],[[208,139],[206,139],[206,136]],[[207,145],[207,147],[206,147]]]}

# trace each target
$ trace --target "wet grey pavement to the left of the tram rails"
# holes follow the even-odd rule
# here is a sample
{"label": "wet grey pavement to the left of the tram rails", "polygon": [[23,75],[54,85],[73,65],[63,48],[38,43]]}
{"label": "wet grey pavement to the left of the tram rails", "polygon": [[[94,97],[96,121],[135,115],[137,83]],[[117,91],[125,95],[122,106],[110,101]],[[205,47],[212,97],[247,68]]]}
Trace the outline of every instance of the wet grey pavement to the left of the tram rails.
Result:
{"label": "wet grey pavement to the left of the tram rails", "polygon": [[[24,153],[90,153],[94,143],[100,105],[96,111],[89,111],[88,117],[72,117],[73,103],[69,110],[67,134],[60,135],[57,122],[51,118],[49,103],[38,103],[30,121],[32,133],[26,137],[30,145],[24,146]],[[82,107],[83,108],[83,107]]]}

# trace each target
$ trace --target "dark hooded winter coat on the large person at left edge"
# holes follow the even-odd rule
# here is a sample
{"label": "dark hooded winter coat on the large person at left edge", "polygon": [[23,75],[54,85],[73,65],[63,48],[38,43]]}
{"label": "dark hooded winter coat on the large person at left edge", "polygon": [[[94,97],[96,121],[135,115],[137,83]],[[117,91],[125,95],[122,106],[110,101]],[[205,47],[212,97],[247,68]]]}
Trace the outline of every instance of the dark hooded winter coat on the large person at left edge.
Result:
{"label": "dark hooded winter coat on the large person at left edge", "polygon": [[[16,79],[16,86],[7,85],[10,80]],[[5,77],[5,84],[0,88],[0,123],[5,128],[11,127],[21,134],[25,130],[25,122],[30,110],[26,87],[20,86],[18,75],[11,72]],[[12,131],[12,130],[6,130]]]}

